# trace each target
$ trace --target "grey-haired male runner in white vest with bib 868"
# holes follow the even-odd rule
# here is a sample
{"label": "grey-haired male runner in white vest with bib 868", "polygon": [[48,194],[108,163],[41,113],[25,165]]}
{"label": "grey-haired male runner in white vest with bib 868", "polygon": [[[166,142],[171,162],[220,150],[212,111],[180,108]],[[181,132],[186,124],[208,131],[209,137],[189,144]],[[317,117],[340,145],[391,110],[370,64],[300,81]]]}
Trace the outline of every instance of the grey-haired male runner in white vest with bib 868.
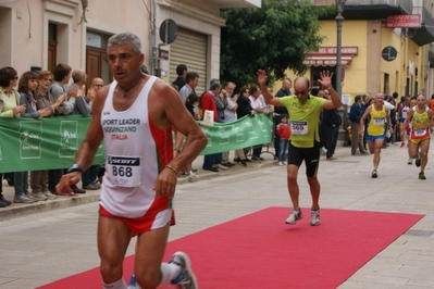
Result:
{"label": "grey-haired male runner in white vest with bib 868", "polygon": [[[176,176],[207,144],[207,137],[164,81],[144,75],[140,39],[131,33],[109,39],[108,55],[115,78],[101,88],[92,120],[75,164],[57,186],[71,190],[98,150],[106,144],[106,175],[98,219],[98,250],[103,288],[126,289],[122,263],[129,240],[137,236],[135,276],[141,288],[169,281],[177,288],[198,288],[188,256],[176,252],[162,263],[173,215]],[[187,136],[173,159],[172,126]]]}

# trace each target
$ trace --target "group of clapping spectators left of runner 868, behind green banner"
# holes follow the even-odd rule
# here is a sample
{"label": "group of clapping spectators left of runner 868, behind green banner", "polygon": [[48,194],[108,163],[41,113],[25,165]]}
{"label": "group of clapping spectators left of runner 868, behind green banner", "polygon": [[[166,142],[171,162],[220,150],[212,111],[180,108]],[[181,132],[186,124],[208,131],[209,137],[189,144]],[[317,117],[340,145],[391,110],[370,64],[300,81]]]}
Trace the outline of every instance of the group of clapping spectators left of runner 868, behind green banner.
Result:
{"label": "group of clapping spectators left of runner 868, behind green banner", "polygon": [[[72,81],[70,79],[72,78]],[[70,84],[71,83],[71,84]],[[28,71],[18,76],[10,66],[0,68],[0,117],[57,117],[59,115],[89,116],[97,91],[103,86],[99,77],[86,89],[87,74],[59,63],[53,72]],[[71,197],[86,190],[100,188],[98,165],[90,166],[83,176],[83,187],[72,187]],[[14,187],[13,200],[7,200],[0,183],[0,208],[14,203],[34,203],[55,199],[65,193],[57,192],[55,185],[66,169],[10,172],[0,175]],[[29,181],[28,181],[29,179]],[[28,184],[30,183],[30,184]]]}

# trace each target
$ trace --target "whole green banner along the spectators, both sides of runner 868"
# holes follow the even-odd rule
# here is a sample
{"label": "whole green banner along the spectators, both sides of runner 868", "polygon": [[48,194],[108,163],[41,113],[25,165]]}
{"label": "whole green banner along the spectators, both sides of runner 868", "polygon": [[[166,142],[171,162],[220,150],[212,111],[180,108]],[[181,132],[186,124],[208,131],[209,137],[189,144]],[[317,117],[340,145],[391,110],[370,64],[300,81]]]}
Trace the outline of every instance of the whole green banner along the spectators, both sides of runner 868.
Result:
{"label": "whole green banner along the spectators, both sides of runner 868", "polygon": [[[39,120],[0,118],[0,173],[70,167],[90,120],[80,115]],[[201,154],[270,143],[272,127],[272,117],[263,114],[201,127],[208,137],[208,144]],[[103,163],[101,143],[94,164]]]}

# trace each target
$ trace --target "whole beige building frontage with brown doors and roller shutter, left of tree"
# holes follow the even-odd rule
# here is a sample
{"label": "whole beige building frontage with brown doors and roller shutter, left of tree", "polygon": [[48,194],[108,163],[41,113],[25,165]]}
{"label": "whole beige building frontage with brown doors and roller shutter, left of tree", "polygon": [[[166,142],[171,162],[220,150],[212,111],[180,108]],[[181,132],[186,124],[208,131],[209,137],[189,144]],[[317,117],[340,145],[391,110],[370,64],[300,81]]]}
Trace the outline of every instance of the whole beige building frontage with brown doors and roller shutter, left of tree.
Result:
{"label": "whole beige building frontage with brown doors and roller shutter, left of tree", "polygon": [[[132,32],[142,41],[145,64],[168,81],[185,63],[200,74],[200,89],[220,74],[222,8],[260,7],[260,0],[0,0],[0,66],[18,75],[33,70],[52,71],[63,62],[84,68],[89,81],[112,81],[107,42],[110,36]],[[176,39],[164,45],[160,26],[176,23]],[[168,52],[161,58],[159,51]]]}

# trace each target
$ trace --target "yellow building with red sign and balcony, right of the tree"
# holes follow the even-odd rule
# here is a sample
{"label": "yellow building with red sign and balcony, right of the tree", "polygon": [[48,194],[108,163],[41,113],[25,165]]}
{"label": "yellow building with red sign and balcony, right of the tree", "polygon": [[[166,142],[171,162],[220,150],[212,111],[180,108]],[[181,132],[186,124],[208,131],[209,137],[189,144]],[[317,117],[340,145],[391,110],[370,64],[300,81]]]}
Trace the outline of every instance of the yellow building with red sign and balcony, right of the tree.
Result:
{"label": "yellow building with red sign and balcony, right of the tree", "polygon": [[[324,5],[336,1],[312,0],[312,3]],[[399,96],[433,93],[432,0],[347,0],[343,16],[343,95],[352,99],[358,93],[371,97],[395,91]],[[390,24],[388,16],[399,18],[401,23]],[[414,20],[420,27],[412,26],[414,23],[410,22]],[[305,59],[308,65],[305,76],[312,80],[324,70],[336,75],[336,21],[334,17],[320,21],[320,34],[326,39],[319,51],[307,53]],[[294,74],[290,76],[295,77]],[[337,79],[334,84],[338,85]]]}

